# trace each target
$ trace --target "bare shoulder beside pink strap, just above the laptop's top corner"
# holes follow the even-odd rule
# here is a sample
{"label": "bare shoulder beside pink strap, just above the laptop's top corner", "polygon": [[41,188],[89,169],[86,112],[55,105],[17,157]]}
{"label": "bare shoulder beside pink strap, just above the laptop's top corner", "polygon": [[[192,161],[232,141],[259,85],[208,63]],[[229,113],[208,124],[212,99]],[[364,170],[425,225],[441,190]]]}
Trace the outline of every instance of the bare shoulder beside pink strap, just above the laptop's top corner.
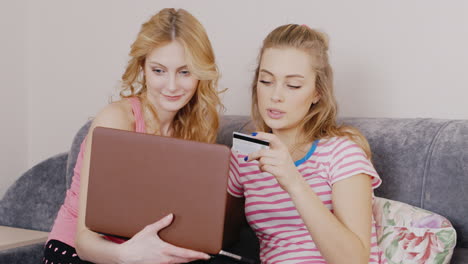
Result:
{"label": "bare shoulder beside pink strap, just above the laptop's top corner", "polygon": [[121,99],[106,105],[93,120],[93,127],[109,127],[133,130],[135,118],[128,99]]}

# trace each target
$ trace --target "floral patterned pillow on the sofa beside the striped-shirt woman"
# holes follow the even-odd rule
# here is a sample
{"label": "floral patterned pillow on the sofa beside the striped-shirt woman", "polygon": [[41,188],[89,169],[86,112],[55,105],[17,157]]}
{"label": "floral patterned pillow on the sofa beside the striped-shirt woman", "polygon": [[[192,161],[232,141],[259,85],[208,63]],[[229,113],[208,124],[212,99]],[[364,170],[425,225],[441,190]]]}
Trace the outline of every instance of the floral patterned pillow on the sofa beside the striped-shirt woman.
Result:
{"label": "floral patterned pillow on the sofa beside the striped-shirt woman", "polygon": [[457,234],[445,217],[380,197],[374,199],[373,214],[389,264],[450,263]]}

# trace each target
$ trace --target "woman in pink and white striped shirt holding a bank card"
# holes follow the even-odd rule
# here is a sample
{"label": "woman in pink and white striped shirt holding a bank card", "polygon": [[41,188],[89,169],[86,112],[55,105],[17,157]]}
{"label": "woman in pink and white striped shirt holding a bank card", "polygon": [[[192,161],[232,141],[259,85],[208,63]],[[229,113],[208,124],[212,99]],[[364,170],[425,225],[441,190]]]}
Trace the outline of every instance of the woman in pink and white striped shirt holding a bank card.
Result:
{"label": "woman in pink and white striped shirt holding a bank card", "polygon": [[283,25],[264,40],[252,118],[269,149],[233,150],[229,192],[245,197],[262,263],[380,263],[372,217],[381,180],[366,139],[336,123],[326,37]]}

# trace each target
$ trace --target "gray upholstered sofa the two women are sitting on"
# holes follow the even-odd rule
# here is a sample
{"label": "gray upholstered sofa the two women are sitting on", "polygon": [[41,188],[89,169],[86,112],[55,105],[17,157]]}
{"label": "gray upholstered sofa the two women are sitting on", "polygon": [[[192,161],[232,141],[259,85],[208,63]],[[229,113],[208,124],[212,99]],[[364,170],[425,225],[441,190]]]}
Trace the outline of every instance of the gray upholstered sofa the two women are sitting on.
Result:
{"label": "gray upholstered sofa the two women are sitting on", "polygon": [[[468,120],[345,118],[370,142],[373,162],[383,179],[376,195],[402,201],[447,217],[457,230],[452,263],[468,263]],[[232,131],[249,132],[246,116],[225,116],[218,142],[231,144]],[[0,225],[49,231],[71,183],[79,145],[89,122],[71,149],[24,173],[0,201]],[[0,251],[0,263],[38,263],[42,244]],[[258,255],[249,228],[232,249]]]}

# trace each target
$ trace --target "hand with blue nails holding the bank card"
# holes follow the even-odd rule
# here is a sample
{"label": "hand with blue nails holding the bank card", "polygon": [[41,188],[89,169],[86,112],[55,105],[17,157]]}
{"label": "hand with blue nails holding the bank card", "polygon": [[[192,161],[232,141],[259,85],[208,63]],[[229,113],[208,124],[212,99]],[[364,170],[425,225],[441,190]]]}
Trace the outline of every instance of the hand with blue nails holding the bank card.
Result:
{"label": "hand with blue nails holding the bank card", "polygon": [[297,184],[303,184],[302,175],[294,165],[289,150],[281,140],[270,133],[253,133],[255,138],[270,142],[269,149],[261,149],[252,152],[246,157],[246,161],[257,160],[261,171],[275,176],[283,190],[289,192]]}

